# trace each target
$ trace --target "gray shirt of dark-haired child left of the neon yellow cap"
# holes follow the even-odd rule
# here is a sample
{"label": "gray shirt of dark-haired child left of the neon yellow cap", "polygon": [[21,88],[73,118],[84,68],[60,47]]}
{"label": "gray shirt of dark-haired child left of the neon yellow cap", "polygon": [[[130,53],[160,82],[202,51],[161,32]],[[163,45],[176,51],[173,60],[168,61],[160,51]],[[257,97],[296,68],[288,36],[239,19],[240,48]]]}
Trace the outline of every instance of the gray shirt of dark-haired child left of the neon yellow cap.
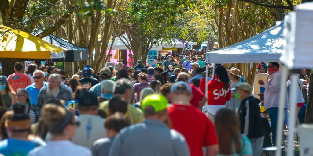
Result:
{"label": "gray shirt of dark-haired child left of the neon yellow cap", "polygon": [[95,141],[91,146],[93,156],[108,156],[114,139],[115,138],[102,138]]}

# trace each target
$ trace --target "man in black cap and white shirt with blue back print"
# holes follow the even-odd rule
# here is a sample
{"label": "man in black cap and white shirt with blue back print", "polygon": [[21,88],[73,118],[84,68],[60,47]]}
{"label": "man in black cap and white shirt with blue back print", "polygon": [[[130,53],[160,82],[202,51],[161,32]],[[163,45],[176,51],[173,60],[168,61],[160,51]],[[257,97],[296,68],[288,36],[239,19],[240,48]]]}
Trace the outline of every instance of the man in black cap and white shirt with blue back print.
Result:
{"label": "man in black cap and white shirt with blue back print", "polygon": [[93,142],[106,137],[103,127],[105,119],[97,115],[99,104],[95,93],[82,92],[77,100],[80,116],[76,120],[80,122],[80,127],[76,130],[73,142],[90,149]]}

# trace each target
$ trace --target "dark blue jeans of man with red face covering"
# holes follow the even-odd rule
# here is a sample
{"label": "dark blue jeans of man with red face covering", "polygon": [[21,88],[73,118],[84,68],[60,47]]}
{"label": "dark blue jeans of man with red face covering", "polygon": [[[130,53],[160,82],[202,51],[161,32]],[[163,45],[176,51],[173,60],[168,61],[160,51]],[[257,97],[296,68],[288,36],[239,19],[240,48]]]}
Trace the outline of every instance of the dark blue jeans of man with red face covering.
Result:
{"label": "dark blue jeans of man with red face covering", "polygon": [[[285,109],[286,110],[286,109]],[[277,129],[277,118],[278,118],[278,107],[272,107],[267,109],[269,113],[269,118],[271,118],[271,129],[272,129],[272,142],[273,146],[276,145],[276,129]],[[284,111],[285,113],[285,111]],[[284,115],[285,117],[285,115]],[[283,133],[283,132],[280,132]]]}

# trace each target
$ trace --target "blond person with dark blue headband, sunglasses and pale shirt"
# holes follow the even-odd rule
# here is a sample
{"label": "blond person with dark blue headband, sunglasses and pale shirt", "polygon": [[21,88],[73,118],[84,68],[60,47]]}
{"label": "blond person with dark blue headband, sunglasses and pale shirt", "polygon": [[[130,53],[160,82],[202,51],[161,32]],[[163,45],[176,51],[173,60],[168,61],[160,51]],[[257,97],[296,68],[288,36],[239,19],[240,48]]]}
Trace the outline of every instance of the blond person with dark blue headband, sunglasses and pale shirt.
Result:
{"label": "blond person with dark blue headband, sunglasses and pale shirt", "polygon": [[[49,79],[51,76],[53,74],[49,76]],[[80,125],[75,120],[74,114],[55,104],[45,105],[42,112],[44,123],[51,133],[51,139],[47,146],[36,147],[28,153],[28,156],[92,156],[90,149],[70,141],[75,136],[76,129]]]}

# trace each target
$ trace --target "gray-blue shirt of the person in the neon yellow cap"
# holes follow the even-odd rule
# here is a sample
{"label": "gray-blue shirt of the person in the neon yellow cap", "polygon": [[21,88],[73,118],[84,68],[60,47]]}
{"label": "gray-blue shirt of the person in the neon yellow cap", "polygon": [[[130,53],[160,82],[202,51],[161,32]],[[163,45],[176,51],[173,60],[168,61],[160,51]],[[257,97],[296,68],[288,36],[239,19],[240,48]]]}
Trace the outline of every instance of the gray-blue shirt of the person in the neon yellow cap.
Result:
{"label": "gray-blue shirt of the person in the neon yellow cap", "polygon": [[161,121],[146,119],[122,129],[109,156],[189,156],[186,139]]}

